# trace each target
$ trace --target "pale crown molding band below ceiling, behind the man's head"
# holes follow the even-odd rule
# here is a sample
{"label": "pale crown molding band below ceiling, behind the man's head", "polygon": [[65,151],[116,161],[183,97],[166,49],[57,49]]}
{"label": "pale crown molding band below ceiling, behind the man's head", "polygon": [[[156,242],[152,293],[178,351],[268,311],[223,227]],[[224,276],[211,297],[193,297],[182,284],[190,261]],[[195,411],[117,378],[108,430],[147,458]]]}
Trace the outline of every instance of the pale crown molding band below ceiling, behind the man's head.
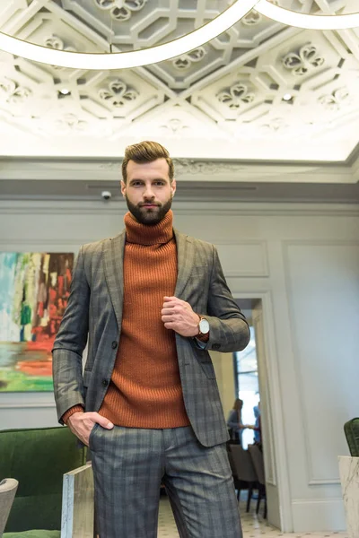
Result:
{"label": "pale crown molding band below ceiling, behind the man's head", "polygon": [[[359,150],[333,162],[174,159],[176,178],[200,182],[356,183]],[[0,180],[119,181],[122,159],[0,158]]]}

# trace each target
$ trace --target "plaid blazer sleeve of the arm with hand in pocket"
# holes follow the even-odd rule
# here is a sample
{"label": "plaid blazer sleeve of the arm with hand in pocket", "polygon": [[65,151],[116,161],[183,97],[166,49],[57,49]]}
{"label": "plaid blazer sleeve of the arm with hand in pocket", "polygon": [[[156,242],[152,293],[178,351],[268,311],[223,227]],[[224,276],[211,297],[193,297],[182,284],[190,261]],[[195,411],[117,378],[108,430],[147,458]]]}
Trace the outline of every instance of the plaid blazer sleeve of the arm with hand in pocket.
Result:
{"label": "plaid blazer sleeve of the arm with hand in pocket", "polygon": [[57,418],[74,405],[84,406],[83,350],[89,330],[90,286],[86,279],[83,247],[74,264],[66,311],[52,350]]}

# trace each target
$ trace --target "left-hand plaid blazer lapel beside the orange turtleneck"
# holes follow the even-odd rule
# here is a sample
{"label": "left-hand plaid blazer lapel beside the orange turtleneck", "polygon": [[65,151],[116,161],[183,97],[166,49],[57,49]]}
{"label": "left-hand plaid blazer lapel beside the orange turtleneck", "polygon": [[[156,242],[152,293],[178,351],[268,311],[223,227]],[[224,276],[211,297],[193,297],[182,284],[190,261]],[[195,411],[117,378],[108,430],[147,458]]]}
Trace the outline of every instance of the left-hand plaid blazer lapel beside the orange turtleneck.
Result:
{"label": "left-hand plaid blazer lapel beside the orange turtleneck", "polygon": [[118,328],[122,322],[123,308],[123,258],[125,248],[125,230],[112,239],[103,243],[103,265],[109,296],[115,310]]}

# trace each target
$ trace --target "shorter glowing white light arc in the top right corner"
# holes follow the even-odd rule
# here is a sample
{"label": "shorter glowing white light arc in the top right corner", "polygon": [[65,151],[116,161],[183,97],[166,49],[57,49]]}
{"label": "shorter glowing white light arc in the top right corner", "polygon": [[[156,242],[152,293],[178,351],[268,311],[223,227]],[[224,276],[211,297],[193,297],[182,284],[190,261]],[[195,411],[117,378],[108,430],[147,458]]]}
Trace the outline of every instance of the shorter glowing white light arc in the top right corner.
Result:
{"label": "shorter glowing white light arc in the top right corner", "polygon": [[310,15],[293,12],[279,5],[271,4],[268,0],[260,0],[255,6],[255,10],[273,21],[307,30],[347,30],[359,27],[359,13]]}

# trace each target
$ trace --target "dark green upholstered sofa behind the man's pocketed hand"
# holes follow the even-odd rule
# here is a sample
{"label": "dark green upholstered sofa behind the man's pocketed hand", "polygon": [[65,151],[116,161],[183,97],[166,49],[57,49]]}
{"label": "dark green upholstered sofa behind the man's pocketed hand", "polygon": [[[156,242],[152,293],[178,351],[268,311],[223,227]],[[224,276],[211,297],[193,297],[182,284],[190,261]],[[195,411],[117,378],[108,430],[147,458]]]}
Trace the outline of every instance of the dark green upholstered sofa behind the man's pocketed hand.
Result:
{"label": "dark green upholstered sofa behind the man's pocketed hand", "polygon": [[86,449],[65,427],[2,430],[0,455],[0,478],[19,481],[4,538],[59,537],[63,474],[85,464]]}

